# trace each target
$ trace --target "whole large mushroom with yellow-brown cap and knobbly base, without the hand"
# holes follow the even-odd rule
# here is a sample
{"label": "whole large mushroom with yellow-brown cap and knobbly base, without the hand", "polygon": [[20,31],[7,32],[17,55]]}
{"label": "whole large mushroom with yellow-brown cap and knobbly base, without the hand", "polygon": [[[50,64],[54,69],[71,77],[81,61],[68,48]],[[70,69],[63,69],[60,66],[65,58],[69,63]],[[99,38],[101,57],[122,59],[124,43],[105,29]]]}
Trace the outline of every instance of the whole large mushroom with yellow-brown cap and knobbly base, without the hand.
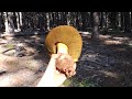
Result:
{"label": "whole large mushroom with yellow-brown cap and knobbly base, without the hand", "polygon": [[82,41],[79,32],[69,25],[54,28],[46,36],[45,45],[51,54],[62,54],[56,67],[67,77],[75,75],[74,63],[78,62]]}

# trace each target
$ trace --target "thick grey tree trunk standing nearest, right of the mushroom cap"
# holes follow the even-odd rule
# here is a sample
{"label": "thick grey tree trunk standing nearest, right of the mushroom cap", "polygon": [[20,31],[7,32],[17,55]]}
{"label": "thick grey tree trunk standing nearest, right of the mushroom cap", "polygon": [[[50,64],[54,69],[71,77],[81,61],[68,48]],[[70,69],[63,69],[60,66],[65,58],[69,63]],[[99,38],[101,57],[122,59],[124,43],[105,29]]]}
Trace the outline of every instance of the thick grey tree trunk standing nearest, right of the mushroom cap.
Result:
{"label": "thick grey tree trunk standing nearest, right of the mushroom cap", "polygon": [[99,40],[99,14],[98,12],[94,12],[94,28],[92,28],[92,40]]}

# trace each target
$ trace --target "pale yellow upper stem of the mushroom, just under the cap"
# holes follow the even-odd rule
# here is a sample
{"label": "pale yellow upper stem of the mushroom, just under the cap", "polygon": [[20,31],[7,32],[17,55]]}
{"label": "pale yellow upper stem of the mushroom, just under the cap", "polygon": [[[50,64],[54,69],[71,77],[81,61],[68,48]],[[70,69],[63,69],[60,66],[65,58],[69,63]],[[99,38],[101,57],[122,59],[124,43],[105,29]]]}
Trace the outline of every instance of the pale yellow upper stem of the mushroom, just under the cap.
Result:
{"label": "pale yellow upper stem of the mushroom, just under the cap", "polygon": [[64,43],[57,43],[57,53],[68,54],[68,47]]}

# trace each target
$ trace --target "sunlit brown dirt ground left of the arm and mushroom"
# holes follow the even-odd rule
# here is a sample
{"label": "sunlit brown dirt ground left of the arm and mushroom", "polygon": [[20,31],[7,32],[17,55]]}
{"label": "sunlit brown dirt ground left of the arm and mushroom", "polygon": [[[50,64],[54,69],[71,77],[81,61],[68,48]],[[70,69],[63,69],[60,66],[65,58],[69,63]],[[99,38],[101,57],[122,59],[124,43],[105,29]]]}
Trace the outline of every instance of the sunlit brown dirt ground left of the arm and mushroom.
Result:
{"label": "sunlit brown dirt ground left of the arm and mushroom", "polygon": [[[24,40],[23,36],[20,36],[3,41],[4,43],[0,44],[0,86],[36,86],[50,59],[44,44],[40,43],[42,40],[35,42],[35,38],[30,36]],[[24,52],[21,52],[22,56],[15,56],[15,45],[20,43],[23,45]]]}

